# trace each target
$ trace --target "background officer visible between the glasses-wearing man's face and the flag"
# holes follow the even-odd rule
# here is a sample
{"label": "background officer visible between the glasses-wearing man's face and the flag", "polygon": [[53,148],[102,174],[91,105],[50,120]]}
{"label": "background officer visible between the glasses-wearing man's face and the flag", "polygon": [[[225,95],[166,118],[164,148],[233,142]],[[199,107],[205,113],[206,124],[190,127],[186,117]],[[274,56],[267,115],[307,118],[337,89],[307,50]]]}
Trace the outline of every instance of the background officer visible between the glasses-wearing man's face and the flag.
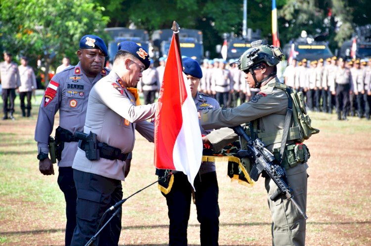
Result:
{"label": "background officer visible between the glasses-wearing man's face and the flag", "polygon": [[139,92],[143,92],[144,104],[153,104],[156,92],[160,90],[160,82],[157,70],[153,67],[153,60],[149,68],[143,71],[143,76],[138,83]]}

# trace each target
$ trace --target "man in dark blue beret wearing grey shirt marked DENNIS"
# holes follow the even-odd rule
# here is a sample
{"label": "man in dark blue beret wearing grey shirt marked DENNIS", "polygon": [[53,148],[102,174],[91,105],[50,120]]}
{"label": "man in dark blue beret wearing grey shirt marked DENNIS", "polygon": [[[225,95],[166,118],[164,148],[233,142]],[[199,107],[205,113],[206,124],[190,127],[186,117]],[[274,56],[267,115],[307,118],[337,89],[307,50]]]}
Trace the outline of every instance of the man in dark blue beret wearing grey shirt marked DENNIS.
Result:
{"label": "man in dark blue beret wearing grey shirt marked DENNIS", "polygon": [[90,90],[109,72],[103,69],[107,55],[107,47],[100,37],[83,36],[77,51],[80,62],[53,76],[40,105],[35,140],[38,142],[39,169],[44,175],[54,175],[53,164],[47,153],[54,115],[59,110],[59,127],[56,130],[56,139],[60,142],[57,151],[58,185],[66,200],[66,245],[71,244],[76,226],[77,194],[71,167],[77,151],[77,139],[73,134],[84,129]]}

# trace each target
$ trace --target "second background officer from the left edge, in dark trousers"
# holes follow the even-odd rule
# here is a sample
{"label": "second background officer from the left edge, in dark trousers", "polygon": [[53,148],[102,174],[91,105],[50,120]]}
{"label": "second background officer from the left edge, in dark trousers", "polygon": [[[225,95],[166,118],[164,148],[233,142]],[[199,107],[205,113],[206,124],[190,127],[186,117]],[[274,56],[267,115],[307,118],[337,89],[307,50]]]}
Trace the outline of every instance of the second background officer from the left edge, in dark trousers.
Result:
{"label": "second background officer from the left edge, in dark trousers", "polygon": [[37,88],[35,72],[28,66],[28,59],[25,56],[21,58],[21,65],[18,67],[18,70],[21,78],[21,86],[19,86],[18,90],[22,117],[26,117],[25,97],[27,98],[27,117],[31,117],[31,97]]}

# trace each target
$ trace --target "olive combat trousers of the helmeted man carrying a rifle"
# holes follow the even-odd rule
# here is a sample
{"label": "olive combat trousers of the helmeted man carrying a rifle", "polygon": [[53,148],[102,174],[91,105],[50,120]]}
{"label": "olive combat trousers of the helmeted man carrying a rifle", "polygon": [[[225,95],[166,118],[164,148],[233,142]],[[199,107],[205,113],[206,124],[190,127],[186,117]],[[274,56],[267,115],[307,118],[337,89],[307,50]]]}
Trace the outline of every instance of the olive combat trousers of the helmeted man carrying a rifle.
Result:
{"label": "olive combat trousers of the helmeted man carrying a rifle", "polygon": [[[298,164],[286,170],[287,181],[293,189],[293,195],[300,209],[306,212],[307,207],[307,163]],[[277,185],[266,178],[268,205],[272,213],[272,245],[304,246],[306,221],[292,202],[280,196],[276,201],[270,197],[276,192]]]}

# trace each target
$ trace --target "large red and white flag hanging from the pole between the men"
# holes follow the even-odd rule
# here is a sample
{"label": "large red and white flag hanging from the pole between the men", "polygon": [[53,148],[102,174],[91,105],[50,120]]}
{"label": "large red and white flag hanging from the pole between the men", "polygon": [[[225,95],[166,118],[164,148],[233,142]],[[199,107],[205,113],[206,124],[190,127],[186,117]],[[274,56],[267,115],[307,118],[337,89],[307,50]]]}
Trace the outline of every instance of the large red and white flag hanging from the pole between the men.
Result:
{"label": "large red and white flag hanging from the pole between the men", "polygon": [[174,34],[158,96],[154,143],[155,167],[181,171],[193,186],[202,160],[202,138]]}

